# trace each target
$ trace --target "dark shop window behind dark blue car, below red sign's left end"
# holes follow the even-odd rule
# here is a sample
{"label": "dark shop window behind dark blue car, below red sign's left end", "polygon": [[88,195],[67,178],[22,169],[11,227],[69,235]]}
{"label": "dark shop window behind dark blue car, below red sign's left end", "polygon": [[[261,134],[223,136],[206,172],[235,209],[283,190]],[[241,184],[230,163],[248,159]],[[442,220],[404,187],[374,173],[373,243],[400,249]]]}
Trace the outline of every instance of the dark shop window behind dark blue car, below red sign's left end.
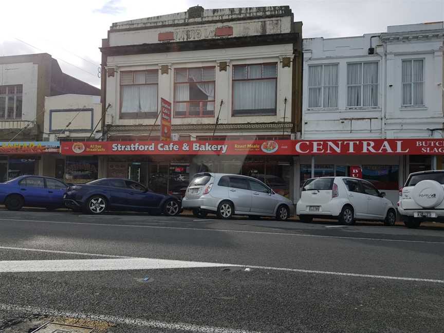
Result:
{"label": "dark shop window behind dark blue car, below red sign's left end", "polygon": [[97,157],[67,157],[65,180],[72,183],[86,183],[97,179]]}

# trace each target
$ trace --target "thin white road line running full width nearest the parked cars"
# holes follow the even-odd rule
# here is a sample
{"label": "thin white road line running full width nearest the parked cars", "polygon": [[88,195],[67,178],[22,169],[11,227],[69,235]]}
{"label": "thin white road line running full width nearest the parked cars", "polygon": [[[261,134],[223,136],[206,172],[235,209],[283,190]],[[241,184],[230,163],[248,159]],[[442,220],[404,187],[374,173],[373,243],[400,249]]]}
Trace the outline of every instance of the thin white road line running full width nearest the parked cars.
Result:
{"label": "thin white road line running full width nearest the parked cars", "polygon": [[42,221],[42,220],[26,220],[26,219],[11,219],[11,218],[0,218],[0,221],[37,222],[37,223],[53,223],[53,224],[101,226],[101,227],[126,227],[126,228],[131,227],[131,228],[149,228],[149,229],[197,230],[197,231],[233,232],[233,233],[246,233],[246,234],[285,235],[285,236],[313,237],[313,238],[359,239],[361,241],[423,243],[423,244],[442,244],[442,245],[444,245],[444,242],[409,241],[407,239],[390,239],[390,238],[386,239],[386,238],[370,238],[370,237],[323,236],[323,235],[308,235],[308,234],[297,234],[297,233],[286,233],[286,232],[247,231],[247,230],[230,230],[230,229],[206,229],[206,228],[186,228],[186,227],[161,227],[161,226],[142,226],[142,225],[139,226],[139,225],[122,225],[122,224],[105,224],[105,223]]}

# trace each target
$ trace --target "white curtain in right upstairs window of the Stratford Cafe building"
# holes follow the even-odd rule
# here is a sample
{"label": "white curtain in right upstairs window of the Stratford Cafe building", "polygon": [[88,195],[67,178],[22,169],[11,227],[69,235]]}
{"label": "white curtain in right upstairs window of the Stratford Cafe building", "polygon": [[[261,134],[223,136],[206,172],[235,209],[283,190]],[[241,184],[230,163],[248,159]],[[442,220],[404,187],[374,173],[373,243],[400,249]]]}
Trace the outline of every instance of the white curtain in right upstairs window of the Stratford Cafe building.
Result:
{"label": "white curtain in right upstairs window of the Stratford Cafe building", "polygon": [[275,79],[234,81],[233,89],[234,110],[241,114],[276,107]]}

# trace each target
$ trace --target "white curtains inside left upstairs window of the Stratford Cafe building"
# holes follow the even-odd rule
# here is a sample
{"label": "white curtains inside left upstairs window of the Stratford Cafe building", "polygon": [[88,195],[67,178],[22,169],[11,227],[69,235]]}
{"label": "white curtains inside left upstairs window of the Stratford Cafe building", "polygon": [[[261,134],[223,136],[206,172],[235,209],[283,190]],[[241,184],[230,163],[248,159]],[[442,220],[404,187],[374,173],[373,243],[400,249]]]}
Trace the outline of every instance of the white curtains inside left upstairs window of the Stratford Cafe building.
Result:
{"label": "white curtains inside left upstairs window of the Stratford Cafe building", "polygon": [[157,113],[157,85],[122,86],[122,113]]}

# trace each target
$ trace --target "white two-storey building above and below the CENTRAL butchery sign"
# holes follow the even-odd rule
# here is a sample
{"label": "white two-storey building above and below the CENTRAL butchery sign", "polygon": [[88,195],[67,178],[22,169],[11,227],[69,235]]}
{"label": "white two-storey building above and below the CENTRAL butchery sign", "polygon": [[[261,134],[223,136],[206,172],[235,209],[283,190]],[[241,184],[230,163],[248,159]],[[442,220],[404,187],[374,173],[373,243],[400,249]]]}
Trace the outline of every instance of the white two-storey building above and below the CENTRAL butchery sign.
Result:
{"label": "white two-storey building above and below the CENTRAL butchery sign", "polygon": [[[442,22],[389,26],[387,32],[303,41],[302,138],[442,138]],[[442,168],[440,156],[301,156],[299,185],[346,175],[350,165],[397,201],[406,175]]]}

